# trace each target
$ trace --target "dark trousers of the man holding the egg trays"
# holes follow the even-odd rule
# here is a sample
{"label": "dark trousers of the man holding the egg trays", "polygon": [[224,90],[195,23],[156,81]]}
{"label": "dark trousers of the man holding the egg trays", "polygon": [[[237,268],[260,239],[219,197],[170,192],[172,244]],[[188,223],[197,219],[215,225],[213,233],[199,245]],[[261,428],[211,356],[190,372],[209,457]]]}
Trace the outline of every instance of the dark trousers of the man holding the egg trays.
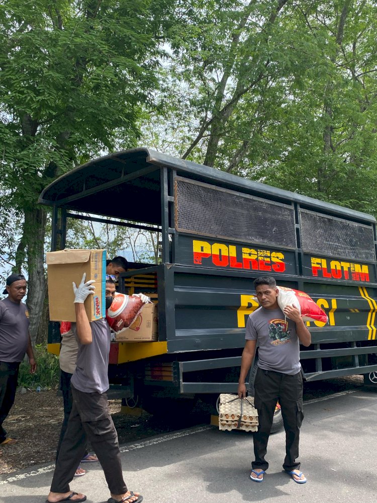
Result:
{"label": "dark trousers of the man holding the egg trays", "polygon": [[255,376],[254,405],[258,410],[258,431],[254,433],[255,461],[252,468],[267,470],[264,459],[267,453],[268,438],[271,431],[273,414],[279,401],[281,415],[286,431],[286,457],[282,465],[286,471],[300,468],[299,441],[303,412],[303,378],[301,372],[295,375],[282,374],[258,368]]}

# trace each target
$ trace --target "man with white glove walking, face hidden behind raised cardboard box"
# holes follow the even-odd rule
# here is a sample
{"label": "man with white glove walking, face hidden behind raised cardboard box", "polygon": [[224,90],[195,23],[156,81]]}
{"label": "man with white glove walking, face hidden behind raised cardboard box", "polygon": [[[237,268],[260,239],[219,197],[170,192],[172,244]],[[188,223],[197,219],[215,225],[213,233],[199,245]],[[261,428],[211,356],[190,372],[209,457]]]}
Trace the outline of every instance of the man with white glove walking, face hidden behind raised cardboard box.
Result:
{"label": "man with white glove walking, face hidden behind raised cardboard box", "polygon": [[86,500],[84,494],[69,489],[84,455],[86,438],[104,470],[111,493],[109,503],[140,502],[143,497],[129,491],[123,480],[118,435],[108,406],[110,327],[105,318],[89,322],[84,301],[95,287],[93,280],[85,283],[85,277],[84,274],[78,287],[73,283],[76,323],[72,323],[72,330],[79,342],[76,371],[71,379],[73,406],[47,503]]}

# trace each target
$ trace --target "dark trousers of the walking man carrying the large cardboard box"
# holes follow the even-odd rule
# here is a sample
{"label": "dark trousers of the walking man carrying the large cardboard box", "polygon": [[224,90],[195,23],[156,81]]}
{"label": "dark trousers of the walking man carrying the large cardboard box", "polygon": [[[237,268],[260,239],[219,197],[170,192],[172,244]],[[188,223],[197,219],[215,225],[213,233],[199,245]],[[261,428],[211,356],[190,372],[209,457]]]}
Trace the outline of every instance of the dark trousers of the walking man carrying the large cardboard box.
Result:
{"label": "dark trousers of the walking man carrying the large cardboard box", "polygon": [[86,438],[101,463],[110,492],[124,494],[118,435],[109,412],[107,393],[83,393],[71,384],[73,406],[67,430],[60,446],[51,483],[52,492],[68,492],[77,466],[82,459]]}

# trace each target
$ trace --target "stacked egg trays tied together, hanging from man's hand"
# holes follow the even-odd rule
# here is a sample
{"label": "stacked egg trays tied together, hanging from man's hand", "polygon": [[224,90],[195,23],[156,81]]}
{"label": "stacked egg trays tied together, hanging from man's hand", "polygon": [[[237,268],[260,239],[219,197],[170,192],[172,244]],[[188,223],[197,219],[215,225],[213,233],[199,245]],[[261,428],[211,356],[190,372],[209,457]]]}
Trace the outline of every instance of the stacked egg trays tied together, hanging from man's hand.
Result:
{"label": "stacked egg trays tied together, hanging from man's hand", "polygon": [[219,405],[219,429],[256,432],[258,412],[254,407],[253,397],[241,399],[230,393],[222,393]]}

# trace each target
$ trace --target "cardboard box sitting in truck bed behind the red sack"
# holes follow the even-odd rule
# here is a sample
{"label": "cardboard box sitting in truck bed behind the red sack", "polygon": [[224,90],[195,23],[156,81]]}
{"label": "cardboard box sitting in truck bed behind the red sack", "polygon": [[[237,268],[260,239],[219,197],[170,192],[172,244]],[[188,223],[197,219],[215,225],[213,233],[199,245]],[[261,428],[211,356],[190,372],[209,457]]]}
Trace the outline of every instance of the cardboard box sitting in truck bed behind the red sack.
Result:
{"label": "cardboard box sitting in truck bed behind the red sack", "polygon": [[158,340],[157,304],[144,304],[140,314],[128,328],[116,333],[117,342],[148,342]]}

